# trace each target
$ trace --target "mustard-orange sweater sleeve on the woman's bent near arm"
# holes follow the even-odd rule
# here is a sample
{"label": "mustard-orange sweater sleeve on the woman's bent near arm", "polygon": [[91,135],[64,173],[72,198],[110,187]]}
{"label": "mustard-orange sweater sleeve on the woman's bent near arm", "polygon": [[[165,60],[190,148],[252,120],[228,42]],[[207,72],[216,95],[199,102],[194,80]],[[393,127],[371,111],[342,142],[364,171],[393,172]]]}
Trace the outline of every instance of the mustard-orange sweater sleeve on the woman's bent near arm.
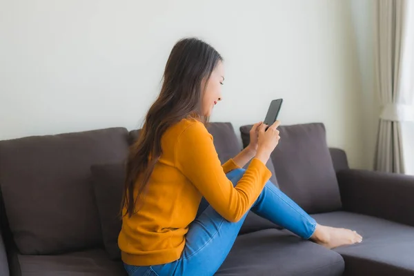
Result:
{"label": "mustard-orange sweater sleeve on the woman's bent near arm", "polygon": [[[228,162],[233,162],[231,159]],[[228,163],[226,162],[226,164]],[[233,187],[221,167],[213,138],[202,124],[191,124],[177,139],[175,166],[193,183],[208,203],[228,221],[239,221],[259,197],[271,172],[253,159]]]}

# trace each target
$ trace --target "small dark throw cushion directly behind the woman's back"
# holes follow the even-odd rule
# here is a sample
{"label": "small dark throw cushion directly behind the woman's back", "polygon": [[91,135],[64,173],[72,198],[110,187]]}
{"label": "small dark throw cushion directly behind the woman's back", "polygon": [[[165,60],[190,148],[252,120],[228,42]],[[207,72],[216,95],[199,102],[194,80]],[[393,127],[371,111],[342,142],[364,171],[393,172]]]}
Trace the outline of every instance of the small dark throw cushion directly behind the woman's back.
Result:
{"label": "small dark throw cushion directly behind the woman's back", "polygon": [[122,221],[119,210],[125,181],[125,166],[124,164],[93,165],[90,170],[101,221],[103,244],[110,259],[120,259],[118,235]]}

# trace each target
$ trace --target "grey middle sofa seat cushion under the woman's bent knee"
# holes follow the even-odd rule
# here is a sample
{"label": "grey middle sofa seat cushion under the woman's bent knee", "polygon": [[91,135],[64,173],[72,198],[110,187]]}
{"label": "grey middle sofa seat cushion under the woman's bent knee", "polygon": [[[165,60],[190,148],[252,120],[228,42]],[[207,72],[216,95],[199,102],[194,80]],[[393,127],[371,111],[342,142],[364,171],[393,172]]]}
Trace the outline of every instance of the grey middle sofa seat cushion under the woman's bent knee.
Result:
{"label": "grey middle sofa seat cushion under the woman's bent knee", "polygon": [[333,250],[305,241],[287,230],[239,235],[216,275],[342,275],[344,260]]}

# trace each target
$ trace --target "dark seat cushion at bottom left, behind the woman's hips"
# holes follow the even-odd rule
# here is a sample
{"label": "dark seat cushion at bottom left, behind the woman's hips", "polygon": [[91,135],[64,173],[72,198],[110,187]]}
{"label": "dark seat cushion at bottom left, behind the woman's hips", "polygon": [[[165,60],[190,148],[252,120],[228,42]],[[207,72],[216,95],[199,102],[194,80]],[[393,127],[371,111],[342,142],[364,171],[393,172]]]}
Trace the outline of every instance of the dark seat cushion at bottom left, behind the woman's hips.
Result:
{"label": "dark seat cushion at bottom left, behind the woman's hips", "polygon": [[[122,262],[108,259],[103,249],[63,255],[18,255],[21,276],[126,276]],[[18,268],[14,268],[14,271]],[[18,274],[18,273],[15,273]]]}

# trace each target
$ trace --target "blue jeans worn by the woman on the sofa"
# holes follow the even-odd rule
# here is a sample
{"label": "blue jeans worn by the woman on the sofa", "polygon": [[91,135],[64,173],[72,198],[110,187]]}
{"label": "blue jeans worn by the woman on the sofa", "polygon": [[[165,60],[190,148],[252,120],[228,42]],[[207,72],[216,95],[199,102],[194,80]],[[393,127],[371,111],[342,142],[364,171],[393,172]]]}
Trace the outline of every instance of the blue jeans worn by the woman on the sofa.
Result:
{"label": "blue jeans worn by the woman on the sofa", "polygon": [[[227,177],[235,185],[244,171],[232,170]],[[304,239],[309,239],[315,231],[315,219],[270,181],[250,210]],[[246,216],[247,213],[237,222],[227,221],[202,199],[197,217],[188,229],[184,251],[177,261],[156,266],[124,264],[126,271],[129,276],[214,275],[230,252]]]}

